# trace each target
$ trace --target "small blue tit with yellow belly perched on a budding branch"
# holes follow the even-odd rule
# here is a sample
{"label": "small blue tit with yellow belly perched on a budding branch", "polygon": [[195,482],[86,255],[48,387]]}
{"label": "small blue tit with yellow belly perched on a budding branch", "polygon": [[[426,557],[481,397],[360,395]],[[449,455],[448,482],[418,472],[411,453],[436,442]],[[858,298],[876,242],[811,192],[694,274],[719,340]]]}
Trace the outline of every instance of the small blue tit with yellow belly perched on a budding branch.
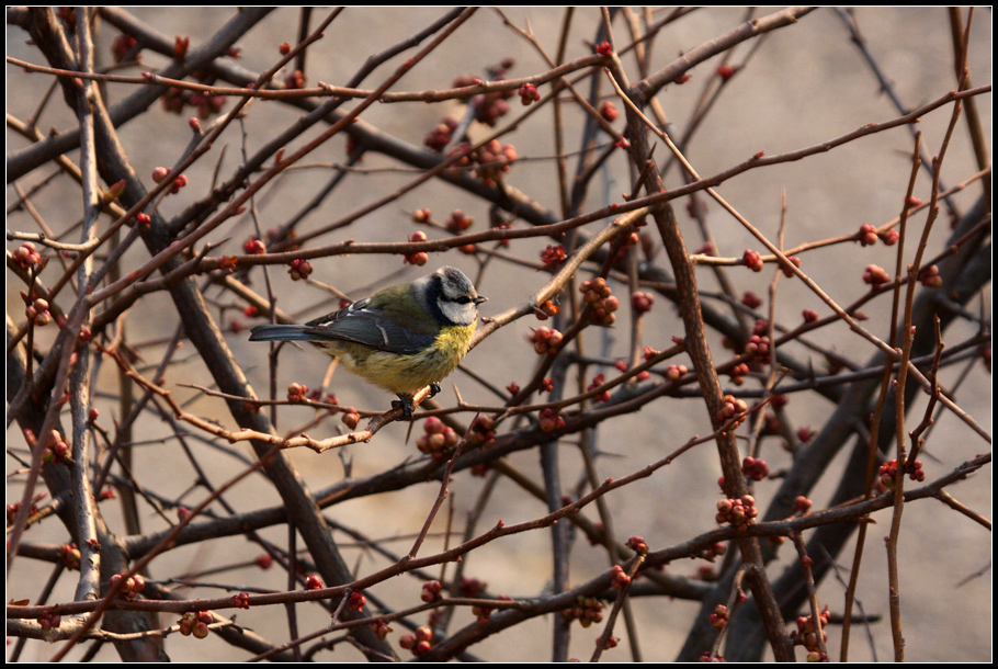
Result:
{"label": "small blue tit with yellow belly perched on a budding branch", "polygon": [[305,325],[257,326],[250,341],[308,341],[398,395],[392,406],[411,419],[412,396],[428,385],[439,393],[468,352],[486,299],[464,272],[443,267]]}

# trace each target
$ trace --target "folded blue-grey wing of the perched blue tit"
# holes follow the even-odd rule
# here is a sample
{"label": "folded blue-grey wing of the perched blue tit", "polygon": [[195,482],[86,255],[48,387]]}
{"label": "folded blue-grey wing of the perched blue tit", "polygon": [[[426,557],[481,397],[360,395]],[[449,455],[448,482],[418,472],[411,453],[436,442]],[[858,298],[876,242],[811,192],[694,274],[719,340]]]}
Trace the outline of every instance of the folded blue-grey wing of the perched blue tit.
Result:
{"label": "folded blue-grey wing of the perched blue tit", "polygon": [[303,331],[313,340],[351,341],[389,353],[411,355],[433,343],[432,333],[420,333],[362,299],[328,316],[311,320]]}

